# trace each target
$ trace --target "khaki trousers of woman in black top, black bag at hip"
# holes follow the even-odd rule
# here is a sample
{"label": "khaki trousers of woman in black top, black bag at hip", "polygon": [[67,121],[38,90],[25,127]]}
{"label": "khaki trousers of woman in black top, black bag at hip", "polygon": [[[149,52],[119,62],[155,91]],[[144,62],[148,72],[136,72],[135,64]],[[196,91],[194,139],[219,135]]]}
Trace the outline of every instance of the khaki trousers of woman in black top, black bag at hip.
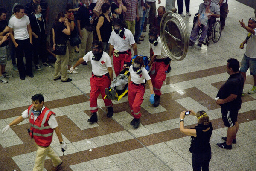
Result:
{"label": "khaki trousers of woman in black top, black bag at hip", "polygon": [[54,67],[54,79],[57,79],[61,75],[61,80],[67,80],[67,64],[68,64],[68,57],[69,56],[69,49],[67,47],[65,55],[56,55],[56,62]]}

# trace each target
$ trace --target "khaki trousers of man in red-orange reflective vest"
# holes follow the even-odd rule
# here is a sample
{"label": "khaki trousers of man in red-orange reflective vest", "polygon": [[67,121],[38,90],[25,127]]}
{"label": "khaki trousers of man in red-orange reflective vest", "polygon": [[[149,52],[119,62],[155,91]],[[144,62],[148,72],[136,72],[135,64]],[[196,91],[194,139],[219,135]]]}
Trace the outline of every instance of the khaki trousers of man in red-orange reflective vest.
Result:
{"label": "khaki trousers of man in red-orange reflective vest", "polygon": [[57,156],[51,146],[42,147],[35,143],[37,151],[35,157],[35,166],[33,171],[43,171],[45,157],[48,156],[52,159],[53,166],[56,167],[61,164],[61,159]]}

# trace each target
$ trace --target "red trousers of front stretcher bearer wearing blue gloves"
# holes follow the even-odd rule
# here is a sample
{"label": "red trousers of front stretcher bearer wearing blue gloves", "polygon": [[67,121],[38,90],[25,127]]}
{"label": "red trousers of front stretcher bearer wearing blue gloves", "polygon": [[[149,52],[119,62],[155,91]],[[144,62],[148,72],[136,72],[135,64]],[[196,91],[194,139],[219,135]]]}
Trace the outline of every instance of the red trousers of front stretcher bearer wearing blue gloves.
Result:
{"label": "red trousers of front stretcher bearer wearing blue gloves", "polygon": [[140,105],[143,102],[145,85],[134,85],[130,81],[128,87],[128,101],[130,104],[131,114],[134,116],[134,118],[139,119],[141,116]]}

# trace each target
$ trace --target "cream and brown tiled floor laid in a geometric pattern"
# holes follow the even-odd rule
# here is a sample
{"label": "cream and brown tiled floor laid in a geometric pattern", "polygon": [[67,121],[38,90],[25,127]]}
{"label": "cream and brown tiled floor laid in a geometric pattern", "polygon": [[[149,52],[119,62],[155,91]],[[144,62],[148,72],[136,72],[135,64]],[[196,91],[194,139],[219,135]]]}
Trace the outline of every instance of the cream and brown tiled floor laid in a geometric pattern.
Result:
{"label": "cream and brown tiled floor laid in a geometric pattern", "polygon": [[[190,4],[192,14],[198,10],[201,0]],[[163,0],[164,4],[165,1]],[[141,125],[133,129],[128,97],[113,101],[114,115],[107,118],[106,108],[101,98],[99,121],[90,124],[90,63],[79,66],[79,74],[69,75],[70,83],[53,81],[53,68],[42,67],[34,70],[34,78],[26,77],[21,81],[18,73],[8,84],[0,84],[0,130],[20,115],[29,104],[30,98],[42,93],[45,105],[52,109],[61,128],[68,148],[64,156],[57,136],[54,134],[52,148],[64,161],[62,171],[191,171],[190,137],[179,130],[180,112],[187,109],[207,111],[214,127],[211,137],[211,171],[256,171],[256,94],[243,97],[239,111],[239,132],[237,143],[232,150],[218,148],[227,128],[221,119],[220,107],[215,105],[215,96],[221,85],[227,80],[225,65],[228,58],[241,61],[244,49],[239,44],[244,41],[247,32],[240,27],[238,19],[245,21],[253,17],[253,9],[237,1],[229,1],[229,14],[226,27],[217,43],[189,48],[183,61],[172,62],[172,71],[164,81],[160,106],[149,103],[147,87],[142,104]],[[185,11],[185,9],[184,9]],[[192,17],[185,17],[188,32],[192,29]],[[148,33],[148,32],[147,32]],[[147,34],[146,34],[147,35]],[[138,46],[140,55],[149,55],[148,35]],[[247,73],[245,91],[253,84],[253,77]],[[185,118],[185,125],[191,128],[195,117]],[[5,134],[0,134],[0,171],[32,171],[35,159],[35,145],[27,135],[28,121],[13,126]],[[44,165],[47,171],[52,169],[49,158]]]}

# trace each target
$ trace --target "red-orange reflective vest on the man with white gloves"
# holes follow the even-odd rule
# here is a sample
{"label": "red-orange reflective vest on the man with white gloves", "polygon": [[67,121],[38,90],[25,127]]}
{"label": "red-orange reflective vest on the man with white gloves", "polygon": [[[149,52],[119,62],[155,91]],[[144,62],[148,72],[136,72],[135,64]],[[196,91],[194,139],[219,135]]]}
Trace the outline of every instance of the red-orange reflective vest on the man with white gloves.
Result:
{"label": "red-orange reflective vest on the man with white gloves", "polygon": [[44,108],[42,113],[39,114],[37,119],[34,121],[34,113],[32,113],[33,105],[28,108],[29,112],[29,122],[30,122],[30,132],[31,138],[35,139],[35,142],[39,146],[48,147],[52,142],[53,129],[50,128],[47,123],[52,114],[55,115],[48,108]]}

